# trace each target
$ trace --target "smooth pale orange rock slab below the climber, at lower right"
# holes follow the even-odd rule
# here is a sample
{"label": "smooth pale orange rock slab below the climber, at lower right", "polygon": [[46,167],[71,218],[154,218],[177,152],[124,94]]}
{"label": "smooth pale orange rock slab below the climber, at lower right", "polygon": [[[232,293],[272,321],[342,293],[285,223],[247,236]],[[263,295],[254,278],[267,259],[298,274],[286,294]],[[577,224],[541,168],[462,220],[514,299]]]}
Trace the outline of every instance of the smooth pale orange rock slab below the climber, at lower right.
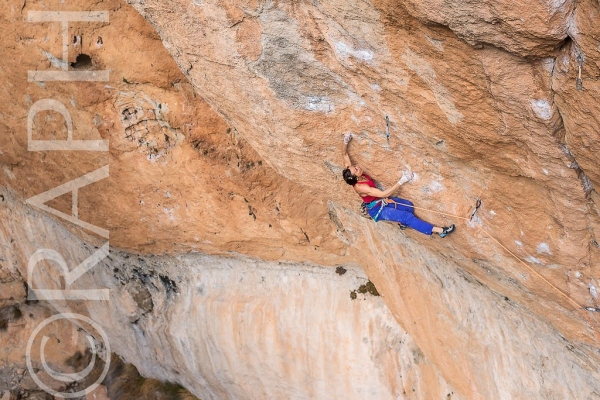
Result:
{"label": "smooth pale orange rock slab below the climber, at lower right", "polygon": [[[482,399],[597,396],[596,347],[574,346],[546,318],[524,309],[521,304],[544,299],[523,295],[526,288],[507,278],[511,266],[453,259],[430,251],[437,248],[434,243],[418,244],[393,225],[365,225],[347,210],[333,212],[351,244],[368,249],[362,252],[370,255],[365,271],[386,294],[386,303],[397,307],[394,316],[411,336],[422,339],[424,354],[434,354],[457,392]],[[467,272],[469,264],[478,270],[474,275]],[[555,307],[560,306],[565,308],[550,319],[561,313],[579,317],[568,304]]]}

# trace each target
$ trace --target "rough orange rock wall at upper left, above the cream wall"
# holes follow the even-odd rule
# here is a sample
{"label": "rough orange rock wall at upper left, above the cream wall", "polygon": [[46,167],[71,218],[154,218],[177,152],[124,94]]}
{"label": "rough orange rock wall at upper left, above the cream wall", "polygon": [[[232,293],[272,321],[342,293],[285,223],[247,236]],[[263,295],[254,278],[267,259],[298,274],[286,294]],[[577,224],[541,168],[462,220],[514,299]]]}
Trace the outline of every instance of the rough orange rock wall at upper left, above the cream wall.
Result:
{"label": "rough orange rock wall at upper left, above the cream wall", "polygon": [[[53,8],[54,7],[54,8]],[[10,39],[0,78],[14,101],[0,108],[0,182],[23,199],[109,165],[109,177],[81,190],[79,218],[110,231],[114,246],[150,253],[235,251],[265,259],[333,264],[346,253],[326,217],[326,199],[278,176],[241,134],[194,93],[156,33],[118,1],[81,9],[109,10],[110,23],[73,23],[69,61],[88,54],[108,83],[27,81],[52,69],[60,54],[58,24],[23,20],[58,1],[6,6],[1,33]],[[102,45],[98,46],[98,37]],[[49,39],[51,38],[51,39]],[[75,139],[106,139],[108,153],[27,151],[27,115],[50,98],[69,111]],[[64,119],[40,112],[34,139],[65,139]],[[70,213],[71,197],[49,205]],[[285,244],[285,246],[282,246]]]}

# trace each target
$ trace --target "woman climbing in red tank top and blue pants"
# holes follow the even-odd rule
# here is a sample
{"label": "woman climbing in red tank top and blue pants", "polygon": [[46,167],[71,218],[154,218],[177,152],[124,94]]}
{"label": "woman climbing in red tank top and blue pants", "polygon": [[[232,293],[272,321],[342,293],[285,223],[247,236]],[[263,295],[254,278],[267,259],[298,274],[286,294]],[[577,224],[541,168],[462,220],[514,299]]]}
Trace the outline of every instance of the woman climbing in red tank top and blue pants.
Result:
{"label": "woman climbing in red tank top and blue pants", "polygon": [[391,188],[387,190],[379,190],[375,187],[373,179],[358,166],[352,165],[350,156],[348,156],[348,144],[352,140],[352,134],[344,134],[344,181],[348,185],[352,185],[356,193],[362,197],[366,205],[367,212],[375,221],[394,221],[401,226],[408,226],[426,235],[437,233],[441,237],[445,237],[452,233],[456,228],[454,224],[446,227],[439,227],[420,220],[415,216],[413,203],[399,197],[388,197],[393,192],[398,190],[400,186],[412,180],[413,174],[409,171],[402,172],[402,178]]}

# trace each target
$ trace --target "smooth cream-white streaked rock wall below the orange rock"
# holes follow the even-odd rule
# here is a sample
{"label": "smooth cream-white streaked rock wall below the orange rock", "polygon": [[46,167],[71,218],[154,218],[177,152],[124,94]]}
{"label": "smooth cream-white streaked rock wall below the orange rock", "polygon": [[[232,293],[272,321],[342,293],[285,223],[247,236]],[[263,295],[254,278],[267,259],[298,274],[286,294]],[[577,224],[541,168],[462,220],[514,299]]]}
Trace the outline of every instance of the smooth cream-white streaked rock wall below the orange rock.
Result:
{"label": "smooth cream-white streaked rock wall below the orange rock", "polygon": [[[52,219],[7,201],[0,243],[9,261],[52,247],[76,263],[96,250]],[[8,244],[9,232],[23,240]],[[44,264],[31,286],[57,288],[56,271]],[[108,288],[108,302],[51,304],[89,315],[111,349],[142,375],[181,383],[201,399],[461,398],[380,297],[350,298],[367,278],[356,266],[346,269],[338,275],[311,264],[115,250],[73,285]],[[150,298],[130,307],[123,297],[135,301],[139,287]],[[23,357],[34,326],[3,348]]]}

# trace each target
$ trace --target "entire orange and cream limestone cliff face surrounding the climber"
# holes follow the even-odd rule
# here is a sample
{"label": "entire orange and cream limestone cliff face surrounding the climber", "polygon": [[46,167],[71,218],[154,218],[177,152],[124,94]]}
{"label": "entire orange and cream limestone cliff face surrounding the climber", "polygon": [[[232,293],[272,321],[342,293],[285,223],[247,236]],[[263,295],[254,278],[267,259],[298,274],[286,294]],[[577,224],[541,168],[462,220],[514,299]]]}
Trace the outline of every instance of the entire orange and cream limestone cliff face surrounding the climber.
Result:
{"label": "entire orange and cream limestone cliff face surrounding the climber", "polygon": [[[38,246],[75,262],[101,244],[20,202],[108,164],[110,177],[81,191],[79,216],[121,250],[81,284],[116,297],[76,308],[143,374],[209,398],[598,396],[600,343],[586,318],[477,229],[580,305],[598,306],[596,1],[131,0],[141,16],[81,1],[109,9],[111,21],[73,27],[69,62],[110,69],[109,82],[28,82],[27,70],[60,66],[61,47],[58,25],[24,16],[61,4],[2,7],[11,102],[0,179],[16,210],[3,211],[3,305],[23,301]],[[80,54],[92,65],[77,64]],[[110,151],[27,151],[28,111],[49,96],[68,106],[78,137],[109,140]],[[36,137],[66,137],[56,115],[36,118]],[[476,198],[483,207],[469,224],[419,210],[458,224],[443,241],[359,217],[340,179],[349,130],[353,159],[384,185],[403,168],[416,173],[401,195],[418,206],[459,216]],[[71,198],[50,205],[70,213]],[[192,250],[205,255],[183,255]],[[362,279],[354,268],[338,277],[305,261],[362,267],[412,339],[398,344],[405,333],[378,299],[345,303]],[[199,289],[207,282],[210,293]],[[222,330],[202,325],[209,319]],[[298,319],[315,330],[300,335]],[[349,375],[327,369],[327,346]]]}

